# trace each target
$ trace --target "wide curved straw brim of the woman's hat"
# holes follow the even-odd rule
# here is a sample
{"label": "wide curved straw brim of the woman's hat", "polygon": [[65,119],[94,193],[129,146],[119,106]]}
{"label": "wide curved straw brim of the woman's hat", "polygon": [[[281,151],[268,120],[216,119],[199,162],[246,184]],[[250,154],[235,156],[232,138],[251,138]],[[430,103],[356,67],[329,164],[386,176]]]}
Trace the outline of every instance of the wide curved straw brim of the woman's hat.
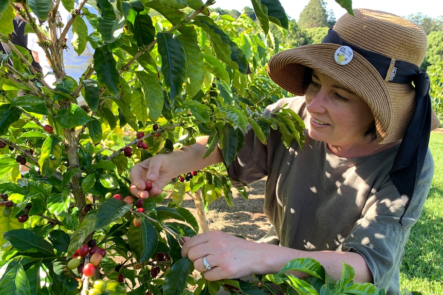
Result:
{"label": "wide curved straw brim of the woman's hat", "polygon": [[394,119],[386,83],[374,66],[357,52],[348,64],[338,64],[334,56],[339,47],[337,44],[320,43],[280,51],[269,61],[268,75],[294,95],[306,93],[306,67],[334,78],[366,102],[374,115],[378,142],[386,143],[384,140],[392,129]]}

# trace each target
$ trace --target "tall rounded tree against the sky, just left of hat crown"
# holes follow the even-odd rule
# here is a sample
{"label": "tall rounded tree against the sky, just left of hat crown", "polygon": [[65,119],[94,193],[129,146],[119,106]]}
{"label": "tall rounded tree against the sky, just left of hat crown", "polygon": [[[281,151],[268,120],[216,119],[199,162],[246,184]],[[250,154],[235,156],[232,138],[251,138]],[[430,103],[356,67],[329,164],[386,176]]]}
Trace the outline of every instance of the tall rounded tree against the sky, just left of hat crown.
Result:
{"label": "tall rounded tree against the sky, just left of hat crown", "polygon": [[300,13],[298,24],[302,29],[328,27],[330,24],[326,13],[326,3],[323,0],[310,0]]}

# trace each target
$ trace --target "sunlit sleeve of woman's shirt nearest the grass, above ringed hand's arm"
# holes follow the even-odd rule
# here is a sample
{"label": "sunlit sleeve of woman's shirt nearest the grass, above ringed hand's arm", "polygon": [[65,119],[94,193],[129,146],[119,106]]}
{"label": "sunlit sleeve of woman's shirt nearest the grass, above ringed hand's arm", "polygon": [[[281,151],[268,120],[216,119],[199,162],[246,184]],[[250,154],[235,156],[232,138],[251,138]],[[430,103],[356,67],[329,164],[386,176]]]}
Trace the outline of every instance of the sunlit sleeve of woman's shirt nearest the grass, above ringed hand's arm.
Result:
{"label": "sunlit sleeve of woman's shirt nearest the grass, above ringed hand's arm", "polygon": [[402,218],[406,200],[388,180],[383,188],[368,198],[362,218],[338,247],[338,251],[360,253],[370,268],[374,284],[387,294],[399,293],[399,267],[405,243],[417,222],[431,187],[434,162],[428,149],[420,178],[408,210]]}

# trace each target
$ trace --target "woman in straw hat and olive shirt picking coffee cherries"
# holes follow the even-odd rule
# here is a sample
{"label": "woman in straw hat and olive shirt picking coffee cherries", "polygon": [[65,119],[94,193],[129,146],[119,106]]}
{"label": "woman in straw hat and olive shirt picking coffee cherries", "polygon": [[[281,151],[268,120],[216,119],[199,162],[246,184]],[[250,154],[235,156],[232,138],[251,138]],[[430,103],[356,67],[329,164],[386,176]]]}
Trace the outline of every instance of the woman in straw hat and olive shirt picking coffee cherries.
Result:
{"label": "woman in straw hat and olive shirt picking coffee cherries", "polygon": [[[339,279],[345,261],[355,282],[399,294],[404,245],[432,181],[429,133],[439,125],[429,78],[418,68],[425,53],[426,34],[415,24],[356,9],[321,44],[274,55],[269,76],[300,96],[267,111],[287,105],[299,112],[307,125],[303,150],[297,143],[286,149],[278,131],[263,145],[251,130],[227,167],[244,183],[267,176],[264,211],[272,228],[266,240],[274,243],[206,232],[186,239],[182,255],[208,280],[278,272],[303,257]],[[206,144],[200,137],[134,166],[132,192],[147,198],[145,180],[156,195],[176,175],[223,162],[217,149],[203,159]]]}

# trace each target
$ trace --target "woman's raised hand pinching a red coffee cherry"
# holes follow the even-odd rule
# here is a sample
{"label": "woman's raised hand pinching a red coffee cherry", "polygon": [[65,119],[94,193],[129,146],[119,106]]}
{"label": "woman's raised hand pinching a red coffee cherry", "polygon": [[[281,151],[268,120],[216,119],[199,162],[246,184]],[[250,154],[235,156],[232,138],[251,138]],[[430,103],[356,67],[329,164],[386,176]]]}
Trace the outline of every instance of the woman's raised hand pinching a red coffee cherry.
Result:
{"label": "woman's raised hand pinching a red coffee cherry", "polygon": [[[136,164],[131,169],[131,193],[137,198],[146,199],[149,196],[160,195],[173,175],[171,160],[168,154],[157,154]],[[152,183],[152,188],[146,191],[146,181]]]}

